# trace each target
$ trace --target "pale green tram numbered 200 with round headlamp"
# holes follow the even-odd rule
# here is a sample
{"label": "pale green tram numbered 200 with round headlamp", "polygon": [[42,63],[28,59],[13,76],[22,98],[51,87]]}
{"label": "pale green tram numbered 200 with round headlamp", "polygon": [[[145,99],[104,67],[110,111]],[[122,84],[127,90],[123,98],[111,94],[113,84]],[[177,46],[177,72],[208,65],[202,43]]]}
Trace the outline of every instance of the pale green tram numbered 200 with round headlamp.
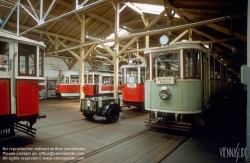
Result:
{"label": "pale green tram numbered 200 with round headlamp", "polygon": [[198,115],[203,109],[225,97],[227,68],[199,42],[150,48],[144,54],[148,125],[180,124],[187,115],[194,115],[196,124],[201,124]]}

